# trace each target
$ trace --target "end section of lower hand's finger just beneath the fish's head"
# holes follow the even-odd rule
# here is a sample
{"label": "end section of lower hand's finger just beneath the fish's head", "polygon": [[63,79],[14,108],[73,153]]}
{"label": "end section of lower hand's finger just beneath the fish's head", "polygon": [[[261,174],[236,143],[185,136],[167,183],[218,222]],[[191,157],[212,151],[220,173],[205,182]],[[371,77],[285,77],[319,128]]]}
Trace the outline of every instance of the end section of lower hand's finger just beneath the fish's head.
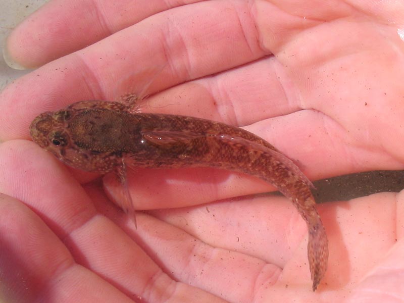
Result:
{"label": "end section of lower hand's finger just beneath the fish's head", "polygon": [[33,142],[0,144],[0,164],[0,192],[23,201],[60,238],[96,215],[91,200],[66,167]]}

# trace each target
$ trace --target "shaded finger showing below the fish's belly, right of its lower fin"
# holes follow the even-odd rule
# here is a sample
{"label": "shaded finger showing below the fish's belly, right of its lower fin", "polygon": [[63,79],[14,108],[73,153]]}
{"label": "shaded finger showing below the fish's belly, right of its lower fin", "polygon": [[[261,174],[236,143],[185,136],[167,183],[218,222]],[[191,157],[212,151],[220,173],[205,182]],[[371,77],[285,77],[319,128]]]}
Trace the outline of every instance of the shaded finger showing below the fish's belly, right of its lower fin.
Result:
{"label": "shaded finger showing below the fish's belly, right of its lower fin", "polygon": [[[115,196],[114,188],[105,186]],[[204,168],[129,170],[128,186],[136,210],[199,205],[274,190],[252,176]]]}

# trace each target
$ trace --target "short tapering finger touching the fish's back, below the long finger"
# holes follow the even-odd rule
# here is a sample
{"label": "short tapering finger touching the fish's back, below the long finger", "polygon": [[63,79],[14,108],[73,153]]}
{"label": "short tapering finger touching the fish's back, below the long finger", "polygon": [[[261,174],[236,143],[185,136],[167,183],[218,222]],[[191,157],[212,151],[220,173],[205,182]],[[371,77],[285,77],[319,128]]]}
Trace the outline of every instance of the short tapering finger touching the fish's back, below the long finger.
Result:
{"label": "short tapering finger touching the fish's back, below the long finger", "polygon": [[270,56],[176,85],[139,106],[142,112],[191,115],[241,127],[301,110],[292,90],[279,62]]}

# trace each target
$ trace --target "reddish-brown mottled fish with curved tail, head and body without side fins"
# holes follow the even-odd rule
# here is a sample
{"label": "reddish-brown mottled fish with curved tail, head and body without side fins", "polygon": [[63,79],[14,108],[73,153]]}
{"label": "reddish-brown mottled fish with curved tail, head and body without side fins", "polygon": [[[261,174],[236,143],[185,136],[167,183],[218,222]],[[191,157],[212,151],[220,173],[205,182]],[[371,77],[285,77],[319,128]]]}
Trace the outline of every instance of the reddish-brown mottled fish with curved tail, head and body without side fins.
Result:
{"label": "reddish-brown mottled fish with curved tail, head and body without side fins", "polygon": [[328,240],[315,209],[312,183],[279,150],[248,131],[193,117],[131,113],[122,103],[90,100],[39,115],[30,133],[34,142],[65,164],[116,172],[121,180],[126,180],[125,165],[215,167],[261,178],[289,197],[307,222],[313,291],[325,274]]}

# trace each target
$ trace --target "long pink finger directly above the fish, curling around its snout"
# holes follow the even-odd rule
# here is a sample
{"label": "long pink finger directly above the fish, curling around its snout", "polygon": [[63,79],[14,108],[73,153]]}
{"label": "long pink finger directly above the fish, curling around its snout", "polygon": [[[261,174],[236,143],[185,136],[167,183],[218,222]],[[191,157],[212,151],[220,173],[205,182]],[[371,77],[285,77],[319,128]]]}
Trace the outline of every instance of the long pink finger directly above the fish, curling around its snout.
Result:
{"label": "long pink finger directly above the fish, curling around its snout", "polygon": [[[250,15],[244,14],[247,3],[195,6],[154,15],[9,85],[0,96],[0,110],[9,114],[2,121],[0,137],[27,138],[37,114],[78,100],[113,100],[143,92],[145,86],[147,95],[268,53],[256,39]],[[153,79],[144,76],[153,73]],[[147,80],[147,85],[141,84]]]}

